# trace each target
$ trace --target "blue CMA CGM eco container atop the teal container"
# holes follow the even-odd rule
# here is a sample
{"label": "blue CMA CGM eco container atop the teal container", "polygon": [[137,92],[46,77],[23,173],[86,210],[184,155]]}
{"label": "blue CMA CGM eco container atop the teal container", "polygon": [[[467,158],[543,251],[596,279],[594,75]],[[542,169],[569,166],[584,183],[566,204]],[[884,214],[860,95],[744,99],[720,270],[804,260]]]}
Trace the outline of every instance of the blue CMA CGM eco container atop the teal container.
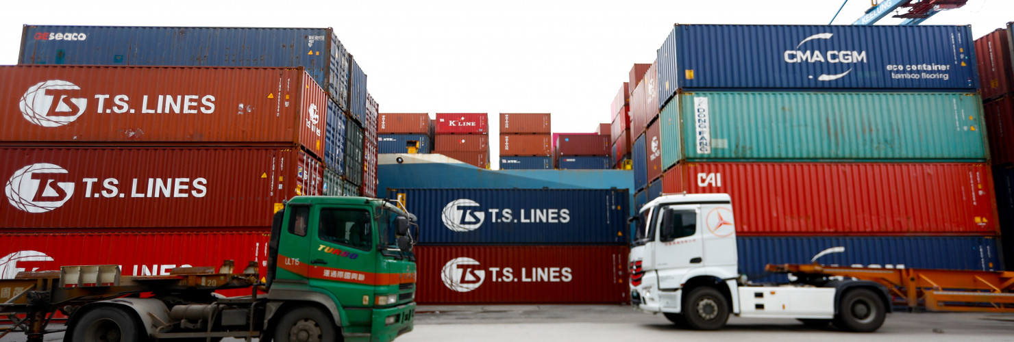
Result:
{"label": "blue CMA CGM eco container atop the teal container", "polygon": [[657,57],[659,107],[677,89],[979,87],[970,26],[676,24]]}

